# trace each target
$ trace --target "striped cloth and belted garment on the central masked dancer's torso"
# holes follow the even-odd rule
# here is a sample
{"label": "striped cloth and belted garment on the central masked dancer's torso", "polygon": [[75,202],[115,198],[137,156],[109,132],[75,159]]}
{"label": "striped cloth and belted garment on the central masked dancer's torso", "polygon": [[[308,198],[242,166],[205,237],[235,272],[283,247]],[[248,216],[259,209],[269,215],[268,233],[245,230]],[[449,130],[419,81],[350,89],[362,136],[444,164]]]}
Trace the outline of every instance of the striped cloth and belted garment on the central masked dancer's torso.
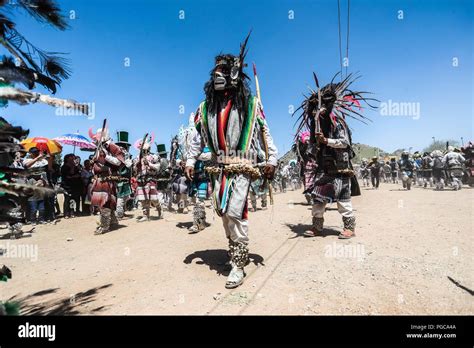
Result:
{"label": "striped cloth and belted garment on the central masked dancer's torso", "polygon": [[221,113],[209,115],[206,102],[202,102],[195,126],[217,160],[216,165],[206,166],[213,184],[214,209],[219,216],[241,219],[246,218],[250,182],[260,177],[252,143],[260,136],[257,129],[263,129],[265,121],[258,112],[256,97],[249,99],[245,115],[229,105]]}

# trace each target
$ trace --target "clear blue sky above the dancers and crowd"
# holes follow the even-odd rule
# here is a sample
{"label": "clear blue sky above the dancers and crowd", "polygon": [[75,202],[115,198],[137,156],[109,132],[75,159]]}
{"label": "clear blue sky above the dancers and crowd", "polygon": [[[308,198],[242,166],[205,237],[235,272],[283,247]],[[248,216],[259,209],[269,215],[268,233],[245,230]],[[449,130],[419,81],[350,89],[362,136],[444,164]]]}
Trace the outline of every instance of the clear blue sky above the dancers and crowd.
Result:
{"label": "clear blue sky above the dancers and crowd", "polygon": [[[107,117],[111,131],[128,130],[132,142],[153,131],[168,147],[203,99],[214,56],[238,53],[252,28],[247,62],[257,64],[268,123],[283,154],[294,134],[289,110],[313,84],[312,71],[324,84],[339,70],[336,0],[59,4],[75,12],[71,29],[52,29],[21,12],[17,29],[44,50],[68,53],[73,74],[57,96],[95,103],[95,119],[57,116],[39,104],[0,110],[32,135],[86,135]],[[341,6],[345,51],[347,1]],[[368,112],[369,125],[349,121],[354,142],[393,151],[421,149],[433,136],[473,138],[473,18],[470,0],[351,1],[349,72],[362,75],[355,89],[374,92],[382,102],[420,106],[419,118]]]}

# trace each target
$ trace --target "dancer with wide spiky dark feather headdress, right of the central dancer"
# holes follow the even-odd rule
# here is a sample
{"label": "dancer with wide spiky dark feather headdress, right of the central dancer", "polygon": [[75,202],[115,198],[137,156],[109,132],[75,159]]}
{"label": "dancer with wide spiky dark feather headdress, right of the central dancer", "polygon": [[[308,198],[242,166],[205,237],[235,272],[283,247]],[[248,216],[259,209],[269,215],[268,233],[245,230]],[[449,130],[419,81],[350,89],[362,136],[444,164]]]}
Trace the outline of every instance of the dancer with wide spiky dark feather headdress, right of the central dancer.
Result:
{"label": "dancer with wide spiky dark feather headdress, right of the central dancer", "polygon": [[344,225],[339,238],[348,239],[355,236],[356,218],[352,209],[351,196],[360,195],[351,160],[355,156],[352,149],[351,131],[346,117],[364,121],[360,114],[361,104],[372,98],[365,98],[363,92],[349,89],[353,75],[348,75],[339,83],[319,86],[316,74],[313,74],[317,91],[303,101],[296,112],[299,116],[298,132],[310,131],[309,153],[316,161],[314,183],[306,189],[313,197],[311,229],[306,236],[321,235],[324,224],[326,204],[337,203]]}

